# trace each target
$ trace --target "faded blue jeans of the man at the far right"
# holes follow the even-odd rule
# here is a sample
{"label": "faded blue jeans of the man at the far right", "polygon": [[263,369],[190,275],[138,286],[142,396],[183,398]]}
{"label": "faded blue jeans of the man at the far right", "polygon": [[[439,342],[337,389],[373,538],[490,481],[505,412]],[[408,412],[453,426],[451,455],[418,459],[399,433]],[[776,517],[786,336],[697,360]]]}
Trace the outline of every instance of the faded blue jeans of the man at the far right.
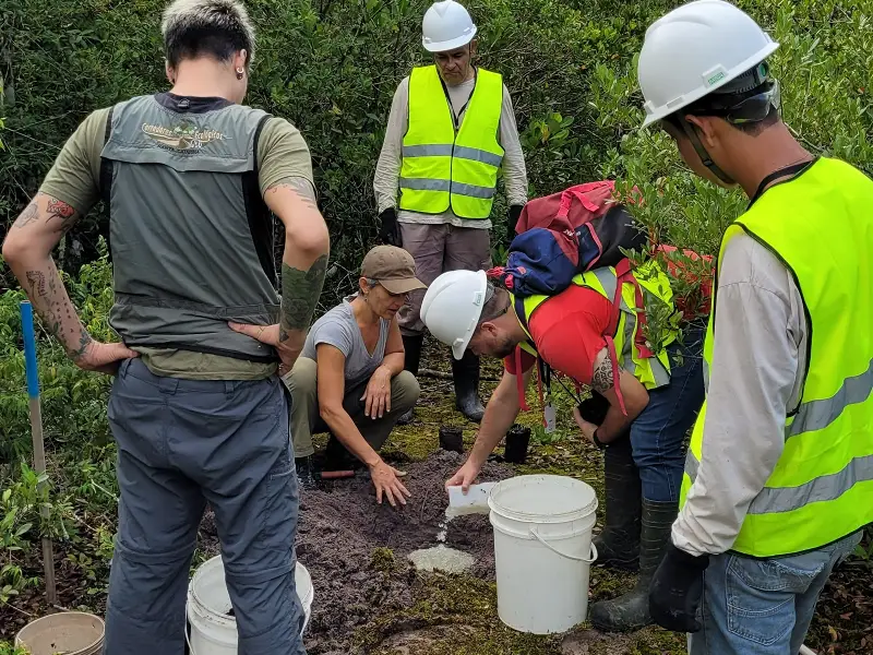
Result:
{"label": "faded blue jeans of the man at the far right", "polygon": [[752,559],[726,552],[704,573],[703,629],[691,655],[797,655],[830,571],[861,532],[802,555]]}

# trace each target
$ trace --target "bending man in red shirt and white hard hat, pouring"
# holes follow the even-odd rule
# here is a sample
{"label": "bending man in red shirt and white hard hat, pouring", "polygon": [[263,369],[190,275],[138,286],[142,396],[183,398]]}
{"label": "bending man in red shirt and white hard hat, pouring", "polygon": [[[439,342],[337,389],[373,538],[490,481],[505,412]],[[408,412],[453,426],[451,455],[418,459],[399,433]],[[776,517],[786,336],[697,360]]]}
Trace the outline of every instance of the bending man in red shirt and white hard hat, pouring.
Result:
{"label": "bending man in red shirt and white hard hat, pouring", "polygon": [[[518,303],[483,271],[444,273],[428,288],[421,318],[454,357],[470,349],[504,358],[476,443],[446,487],[466,492],[479,475],[524,407],[537,357],[554,377],[589,385],[593,397],[573,413],[583,437],[605,450],[606,525],[595,537],[598,561],[641,573],[629,593],[593,604],[589,618],[600,630],[635,630],[651,622],[648,585],[678,513],[683,438],[703,403],[704,325],[685,322],[681,340],[674,325],[668,326],[662,347],[650,349],[645,314],[631,309],[645,307],[637,289],[655,296],[654,302],[678,305],[656,259],[627,277],[605,266],[573,282],[560,294]],[[620,310],[613,306],[618,285]]]}

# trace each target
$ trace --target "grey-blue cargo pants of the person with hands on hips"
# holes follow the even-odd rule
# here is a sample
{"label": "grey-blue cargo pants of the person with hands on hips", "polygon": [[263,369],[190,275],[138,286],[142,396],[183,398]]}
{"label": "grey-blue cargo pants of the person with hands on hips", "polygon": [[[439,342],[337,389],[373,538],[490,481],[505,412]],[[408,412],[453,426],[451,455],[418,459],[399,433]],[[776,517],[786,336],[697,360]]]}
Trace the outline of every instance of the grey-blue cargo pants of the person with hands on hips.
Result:
{"label": "grey-blue cargo pants of the person with hands on hips", "polygon": [[299,497],[279,378],[201,381],[121,365],[109,398],[119,528],[104,655],[181,655],[198,527],[208,501],[240,655],[306,655],[294,541]]}

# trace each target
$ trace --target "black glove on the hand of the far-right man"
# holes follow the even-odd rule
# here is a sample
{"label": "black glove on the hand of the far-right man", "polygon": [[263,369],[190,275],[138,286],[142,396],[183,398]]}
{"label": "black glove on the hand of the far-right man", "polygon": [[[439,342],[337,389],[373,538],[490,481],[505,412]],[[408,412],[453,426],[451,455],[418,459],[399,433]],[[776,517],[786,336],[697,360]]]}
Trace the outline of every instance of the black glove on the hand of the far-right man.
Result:
{"label": "black glove on the hand of the far-right man", "polygon": [[703,572],[708,565],[708,555],[695,557],[668,543],[648,591],[648,610],[658,626],[675,632],[701,630],[697,610],[703,596]]}

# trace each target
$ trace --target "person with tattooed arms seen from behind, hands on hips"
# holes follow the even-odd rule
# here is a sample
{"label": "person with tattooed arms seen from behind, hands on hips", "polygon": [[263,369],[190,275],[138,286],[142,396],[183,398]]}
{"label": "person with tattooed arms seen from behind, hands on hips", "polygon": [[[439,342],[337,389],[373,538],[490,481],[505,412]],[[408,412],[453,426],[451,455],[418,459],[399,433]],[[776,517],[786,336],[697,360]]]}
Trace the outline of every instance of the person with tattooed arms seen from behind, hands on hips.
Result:
{"label": "person with tattooed arms seen from behind, hands on hips", "polygon": [[[104,655],[181,653],[198,526],[215,511],[239,653],[304,655],[295,591],[299,497],[290,370],[330,239],[307,144],[242,105],[255,51],[238,0],[176,0],[162,32],[169,92],[98,109],[64,144],[3,257],[83,369],[113,373],[119,529]],[[120,343],[94,341],[51,252],[103,199]],[[282,295],[275,214],[285,227]],[[279,323],[274,346],[228,321]]]}

